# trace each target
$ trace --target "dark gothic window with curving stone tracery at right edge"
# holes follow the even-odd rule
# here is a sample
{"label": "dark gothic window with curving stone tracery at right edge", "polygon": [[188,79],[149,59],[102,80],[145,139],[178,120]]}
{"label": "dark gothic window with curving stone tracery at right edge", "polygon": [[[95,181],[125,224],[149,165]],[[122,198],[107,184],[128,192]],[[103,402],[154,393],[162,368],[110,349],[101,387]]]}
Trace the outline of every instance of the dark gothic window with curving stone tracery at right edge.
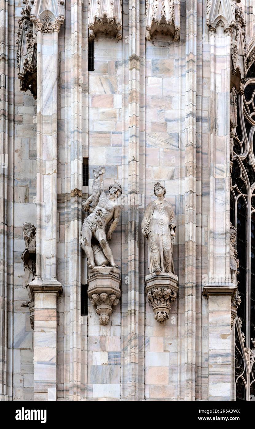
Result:
{"label": "dark gothic window with curving stone tracery at right edge", "polygon": [[255,400],[255,63],[237,95],[232,139],[231,223],[237,228],[238,293],[235,324],[236,401]]}

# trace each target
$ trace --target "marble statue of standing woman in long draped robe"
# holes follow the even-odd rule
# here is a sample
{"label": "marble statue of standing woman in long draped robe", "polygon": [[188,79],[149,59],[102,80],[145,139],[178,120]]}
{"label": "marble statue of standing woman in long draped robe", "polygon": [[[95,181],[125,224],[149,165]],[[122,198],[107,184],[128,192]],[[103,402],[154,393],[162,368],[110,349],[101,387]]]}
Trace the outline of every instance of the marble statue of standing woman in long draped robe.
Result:
{"label": "marble statue of standing woman in long draped robe", "polygon": [[174,273],[172,243],[176,221],[171,202],[166,201],[166,188],[154,185],[157,199],[150,202],[142,220],[142,234],[148,239],[148,269],[150,273]]}

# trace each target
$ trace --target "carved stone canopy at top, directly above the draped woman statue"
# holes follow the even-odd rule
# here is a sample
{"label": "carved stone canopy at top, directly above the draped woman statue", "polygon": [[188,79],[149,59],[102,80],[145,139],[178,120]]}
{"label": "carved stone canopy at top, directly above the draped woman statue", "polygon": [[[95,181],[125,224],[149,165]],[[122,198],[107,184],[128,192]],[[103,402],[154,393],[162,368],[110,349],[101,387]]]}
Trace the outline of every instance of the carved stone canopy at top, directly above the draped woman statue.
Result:
{"label": "carved stone canopy at top, directly above the draped woman statue", "polygon": [[180,8],[179,0],[146,0],[146,39],[151,40],[155,34],[162,34],[179,40]]}

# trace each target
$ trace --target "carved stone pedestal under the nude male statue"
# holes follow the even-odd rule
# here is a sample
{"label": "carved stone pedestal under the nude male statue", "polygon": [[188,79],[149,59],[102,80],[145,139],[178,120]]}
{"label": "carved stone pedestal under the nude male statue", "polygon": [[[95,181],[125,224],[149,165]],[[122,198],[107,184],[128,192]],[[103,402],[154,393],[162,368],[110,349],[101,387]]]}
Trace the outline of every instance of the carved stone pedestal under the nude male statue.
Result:
{"label": "carved stone pedestal under the nude male statue", "polygon": [[109,266],[89,269],[88,285],[89,300],[97,308],[100,324],[107,325],[121,296],[120,270]]}

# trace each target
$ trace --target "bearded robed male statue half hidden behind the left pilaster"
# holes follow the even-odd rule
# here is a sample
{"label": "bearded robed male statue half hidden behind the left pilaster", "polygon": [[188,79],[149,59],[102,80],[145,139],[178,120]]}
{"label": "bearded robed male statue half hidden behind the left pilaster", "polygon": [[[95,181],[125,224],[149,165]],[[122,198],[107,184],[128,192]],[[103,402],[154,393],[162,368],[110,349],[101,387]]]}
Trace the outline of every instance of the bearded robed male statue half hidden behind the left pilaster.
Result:
{"label": "bearded robed male statue half hidden behind the left pilaster", "polygon": [[[21,259],[24,262],[23,287],[27,287],[36,276],[36,227],[29,222],[25,222],[23,233],[26,246],[24,252],[21,254]],[[27,287],[27,292],[30,301],[24,302],[21,307],[28,307],[28,304],[33,301],[32,296],[30,296],[29,287]]]}

